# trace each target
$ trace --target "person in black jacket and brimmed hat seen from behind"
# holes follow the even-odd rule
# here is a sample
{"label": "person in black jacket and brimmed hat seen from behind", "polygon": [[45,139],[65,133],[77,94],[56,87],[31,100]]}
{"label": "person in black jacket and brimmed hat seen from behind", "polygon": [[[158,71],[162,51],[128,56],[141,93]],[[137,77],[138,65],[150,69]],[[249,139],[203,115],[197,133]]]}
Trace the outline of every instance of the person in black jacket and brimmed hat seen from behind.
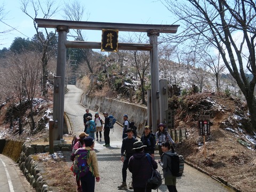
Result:
{"label": "person in black jacket and brimmed hat seen from behind", "polygon": [[154,158],[150,156],[151,164],[148,161],[141,141],[133,143],[133,149],[135,153],[131,156],[128,163],[128,169],[132,173],[132,185],[134,192],[151,192],[151,186],[146,186],[146,182],[151,178],[152,169],[157,169],[157,163]]}

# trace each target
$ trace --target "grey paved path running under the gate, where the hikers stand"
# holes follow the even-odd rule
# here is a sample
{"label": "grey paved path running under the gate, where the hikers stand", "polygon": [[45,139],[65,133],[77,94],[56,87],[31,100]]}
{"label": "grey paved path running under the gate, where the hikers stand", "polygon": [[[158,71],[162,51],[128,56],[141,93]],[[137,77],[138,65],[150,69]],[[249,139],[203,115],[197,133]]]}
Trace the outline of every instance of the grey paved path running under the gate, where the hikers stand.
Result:
{"label": "grey paved path running under the gate, where the hikers stand", "polygon": [[[68,93],[65,94],[65,111],[68,114],[73,132],[75,134],[83,131],[83,114],[85,108],[81,105],[82,90],[79,90],[74,85],[68,85]],[[95,111],[90,110],[92,115]],[[103,111],[99,111],[103,112]],[[100,114],[103,117],[102,114]],[[95,151],[97,152],[100,182],[96,182],[95,191],[99,192],[114,192],[114,191],[133,191],[131,189],[118,190],[117,186],[122,181],[122,162],[121,162],[121,145],[122,145],[122,127],[115,124],[114,132],[110,132],[110,147],[103,147],[102,142],[95,143]],[[157,154],[157,152],[156,152]],[[63,154],[69,159],[70,153]],[[155,155],[156,160],[159,155]],[[71,162],[68,163],[71,166]],[[158,171],[163,174],[161,166],[158,166]],[[75,179],[75,178],[74,178]],[[131,173],[127,171],[127,181],[131,181]],[[75,187],[75,186],[74,186]],[[197,192],[225,192],[233,191],[220,182],[213,180],[211,177],[193,169],[185,164],[185,172],[182,177],[177,179],[177,190],[179,192],[197,191]],[[156,190],[153,190],[156,191]],[[165,185],[159,187],[158,191],[167,191]]]}

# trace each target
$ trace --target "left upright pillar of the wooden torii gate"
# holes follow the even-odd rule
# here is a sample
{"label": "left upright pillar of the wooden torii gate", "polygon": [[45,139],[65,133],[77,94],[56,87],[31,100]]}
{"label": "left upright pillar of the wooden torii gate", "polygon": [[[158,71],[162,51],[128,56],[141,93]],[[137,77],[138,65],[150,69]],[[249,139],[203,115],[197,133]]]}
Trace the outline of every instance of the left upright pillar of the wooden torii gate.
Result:
{"label": "left upright pillar of the wooden torii gate", "polygon": [[[58,26],[58,58],[56,75],[61,77],[61,98],[58,101],[60,106],[60,119],[58,126],[60,127],[60,140],[63,139],[63,121],[64,121],[64,96],[65,96],[65,69],[66,69],[66,51],[65,42],[67,41],[68,26]],[[53,111],[54,113],[54,111]]]}

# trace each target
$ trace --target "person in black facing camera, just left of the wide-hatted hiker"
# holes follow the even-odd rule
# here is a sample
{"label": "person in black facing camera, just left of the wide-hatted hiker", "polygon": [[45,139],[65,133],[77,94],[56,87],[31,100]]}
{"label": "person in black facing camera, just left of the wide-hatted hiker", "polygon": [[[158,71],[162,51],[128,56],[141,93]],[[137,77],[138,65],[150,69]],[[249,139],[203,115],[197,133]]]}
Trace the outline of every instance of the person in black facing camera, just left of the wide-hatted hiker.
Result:
{"label": "person in black facing camera, just left of the wide-hatted hiker", "polygon": [[151,133],[150,131],[150,127],[148,125],[145,126],[144,133],[142,134],[140,141],[143,143],[143,145],[147,146],[144,148],[144,152],[154,157],[156,140],[155,134]]}

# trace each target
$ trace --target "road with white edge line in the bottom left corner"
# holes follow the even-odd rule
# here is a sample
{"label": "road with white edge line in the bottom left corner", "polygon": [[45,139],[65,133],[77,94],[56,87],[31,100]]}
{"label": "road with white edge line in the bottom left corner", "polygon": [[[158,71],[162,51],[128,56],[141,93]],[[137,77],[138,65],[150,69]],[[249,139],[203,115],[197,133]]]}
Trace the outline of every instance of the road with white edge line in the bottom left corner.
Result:
{"label": "road with white edge line in the bottom left corner", "polygon": [[0,191],[35,192],[26,180],[19,165],[9,157],[0,154]]}

